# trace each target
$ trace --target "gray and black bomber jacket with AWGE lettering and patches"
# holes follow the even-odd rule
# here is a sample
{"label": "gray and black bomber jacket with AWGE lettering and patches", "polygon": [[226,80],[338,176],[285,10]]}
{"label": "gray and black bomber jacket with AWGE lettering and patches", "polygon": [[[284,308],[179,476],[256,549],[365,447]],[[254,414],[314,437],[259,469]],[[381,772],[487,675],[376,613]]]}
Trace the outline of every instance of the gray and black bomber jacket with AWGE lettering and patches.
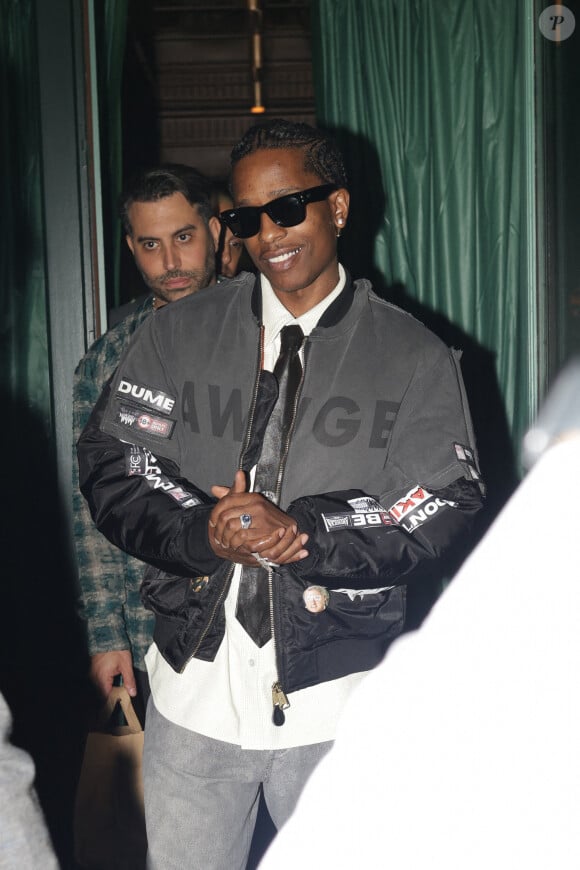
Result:
{"label": "gray and black bomber jacket with AWGE lettering and patches", "polygon": [[[143,600],[176,670],[213,660],[223,638],[234,566],[210,548],[209,493],[259,456],[273,378],[260,300],[246,273],[146,321],[79,440],[97,526],[153,566]],[[377,664],[403,629],[404,584],[468,533],[482,500],[455,352],[347,281],[306,340],[281,489],[309,534],[309,556],[273,576],[284,690]],[[304,605],[313,584],[328,590],[319,613]]]}

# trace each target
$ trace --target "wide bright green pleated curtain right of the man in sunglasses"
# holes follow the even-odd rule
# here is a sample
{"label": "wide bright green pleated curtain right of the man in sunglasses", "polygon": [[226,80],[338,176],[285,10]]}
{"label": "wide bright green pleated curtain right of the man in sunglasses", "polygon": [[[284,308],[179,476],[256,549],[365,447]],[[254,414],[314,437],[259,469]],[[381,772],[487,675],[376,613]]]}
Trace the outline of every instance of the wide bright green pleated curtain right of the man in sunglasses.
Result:
{"label": "wide bright green pleated curtain right of the man in sunglasses", "polygon": [[[351,178],[344,259],[465,348],[488,477],[504,484],[535,386],[522,7],[315,0],[312,8],[318,122],[341,143]],[[477,370],[488,362],[486,380]]]}

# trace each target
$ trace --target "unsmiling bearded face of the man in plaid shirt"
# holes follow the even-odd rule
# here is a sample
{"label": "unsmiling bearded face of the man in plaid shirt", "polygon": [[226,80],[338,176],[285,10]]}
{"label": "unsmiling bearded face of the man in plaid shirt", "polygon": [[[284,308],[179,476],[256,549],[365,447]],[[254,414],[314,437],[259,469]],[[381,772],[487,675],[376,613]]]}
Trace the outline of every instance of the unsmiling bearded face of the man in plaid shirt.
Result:
{"label": "unsmiling bearded face of the man in plaid shirt", "polygon": [[129,208],[127,244],[158,303],[174,302],[215,282],[220,225],[209,227],[182,193]]}

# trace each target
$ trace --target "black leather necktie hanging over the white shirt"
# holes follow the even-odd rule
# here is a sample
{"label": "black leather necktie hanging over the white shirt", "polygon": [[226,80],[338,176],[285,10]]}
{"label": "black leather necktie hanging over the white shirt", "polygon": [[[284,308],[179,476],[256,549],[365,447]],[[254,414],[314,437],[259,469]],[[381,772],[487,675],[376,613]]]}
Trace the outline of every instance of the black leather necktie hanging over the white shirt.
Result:
{"label": "black leather necktie hanging over the white shirt", "polygon": [[[278,398],[264,432],[262,452],[256,466],[254,492],[261,492],[275,504],[279,496],[280,463],[287,449],[296,394],[302,379],[299,351],[303,338],[299,326],[284,326],[280,333],[280,354],[274,366]],[[244,566],[242,569],[236,617],[256,646],[262,647],[270,639],[270,595],[268,572],[264,568]]]}

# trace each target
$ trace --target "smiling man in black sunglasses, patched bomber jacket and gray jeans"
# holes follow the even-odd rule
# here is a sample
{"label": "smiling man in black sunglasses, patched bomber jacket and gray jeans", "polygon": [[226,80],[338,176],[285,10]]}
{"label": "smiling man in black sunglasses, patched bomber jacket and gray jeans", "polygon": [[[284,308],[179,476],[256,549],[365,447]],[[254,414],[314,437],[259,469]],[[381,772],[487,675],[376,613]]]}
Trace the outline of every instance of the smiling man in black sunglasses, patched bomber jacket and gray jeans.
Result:
{"label": "smiling man in black sunglasses, patched bomber jacket and gray jeans", "polygon": [[155,870],[244,867],[261,790],[285,822],[405,583],[482,504],[454,353],[338,262],[334,143],[252,127],[231,185],[257,277],[148,321],[79,442],[99,528],[151,565]]}

